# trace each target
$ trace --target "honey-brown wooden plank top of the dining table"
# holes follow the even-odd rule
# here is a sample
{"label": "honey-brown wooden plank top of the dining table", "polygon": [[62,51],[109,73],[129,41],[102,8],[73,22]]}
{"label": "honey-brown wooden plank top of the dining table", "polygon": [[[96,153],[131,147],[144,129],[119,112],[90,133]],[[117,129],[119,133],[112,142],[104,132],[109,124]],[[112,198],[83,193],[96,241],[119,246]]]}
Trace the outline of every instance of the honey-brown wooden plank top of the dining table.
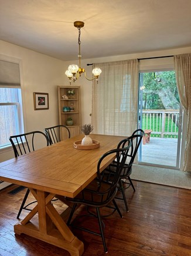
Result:
{"label": "honey-brown wooden plank top of the dining table", "polygon": [[[125,137],[91,134],[100,147],[80,150],[74,141],[83,134],[0,163],[0,179],[41,191],[75,197],[95,177],[101,155],[117,147]],[[103,169],[112,158],[105,159]]]}

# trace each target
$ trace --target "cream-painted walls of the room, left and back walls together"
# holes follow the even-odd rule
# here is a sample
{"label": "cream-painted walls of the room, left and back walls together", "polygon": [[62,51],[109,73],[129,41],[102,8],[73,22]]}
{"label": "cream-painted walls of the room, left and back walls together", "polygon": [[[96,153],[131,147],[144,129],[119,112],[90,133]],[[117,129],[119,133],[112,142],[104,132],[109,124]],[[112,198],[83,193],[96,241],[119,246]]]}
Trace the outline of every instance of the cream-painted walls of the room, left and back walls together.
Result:
{"label": "cream-painted walls of the room, left and back walls together", "polygon": [[[84,49],[86,50],[86,49]],[[81,66],[86,69],[87,77],[91,77],[91,66],[88,63],[100,63],[120,61],[133,58],[148,58],[153,56],[175,55],[191,52],[189,48],[171,49],[166,51],[145,52],[131,55],[109,56],[107,58],[84,59]],[[35,129],[43,131],[45,127],[58,123],[57,85],[69,85],[64,74],[69,64],[77,64],[77,61],[63,62],[49,56],[39,54],[17,45],[0,41],[0,58],[19,59],[21,61],[21,82],[23,98],[23,114],[25,132]],[[140,62],[141,70],[158,67],[173,67],[173,58],[152,59]],[[91,122],[91,82],[83,75],[75,85],[80,85],[81,94],[81,124]],[[49,93],[49,109],[35,111],[33,107],[33,92]],[[12,148],[0,151],[0,162],[12,158]]]}

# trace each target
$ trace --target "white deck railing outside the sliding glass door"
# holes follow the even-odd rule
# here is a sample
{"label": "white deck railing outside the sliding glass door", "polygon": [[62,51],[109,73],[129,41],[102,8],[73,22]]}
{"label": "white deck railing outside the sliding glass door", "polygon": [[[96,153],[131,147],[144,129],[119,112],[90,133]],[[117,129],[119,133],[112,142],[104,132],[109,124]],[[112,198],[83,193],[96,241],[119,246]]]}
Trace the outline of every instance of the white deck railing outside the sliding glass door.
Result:
{"label": "white deck railing outside the sliding glass door", "polygon": [[142,111],[142,128],[152,129],[151,136],[178,138],[179,110],[147,109]]}

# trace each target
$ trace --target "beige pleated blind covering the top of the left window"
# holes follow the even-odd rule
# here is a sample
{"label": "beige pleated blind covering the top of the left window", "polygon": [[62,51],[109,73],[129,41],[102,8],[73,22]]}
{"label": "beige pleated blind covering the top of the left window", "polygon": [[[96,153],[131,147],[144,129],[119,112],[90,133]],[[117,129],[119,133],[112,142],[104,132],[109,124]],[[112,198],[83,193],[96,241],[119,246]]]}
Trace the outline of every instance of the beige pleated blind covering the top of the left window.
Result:
{"label": "beige pleated blind covering the top of the left window", "polygon": [[0,59],[0,87],[21,87],[19,64]]}

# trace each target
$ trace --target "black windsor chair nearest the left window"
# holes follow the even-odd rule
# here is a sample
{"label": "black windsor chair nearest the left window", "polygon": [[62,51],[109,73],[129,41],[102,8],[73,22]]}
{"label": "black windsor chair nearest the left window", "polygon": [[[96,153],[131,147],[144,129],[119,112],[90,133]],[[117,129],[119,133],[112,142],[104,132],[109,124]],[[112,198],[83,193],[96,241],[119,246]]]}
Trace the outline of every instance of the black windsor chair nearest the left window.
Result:
{"label": "black windsor chair nearest the left window", "polygon": [[[47,136],[40,131],[27,132],[25,134],[13,135],[9,137],[9,141],[11,141],[15,157],[19,157],[20,155],[28,154],[29,152],[35,151],[35,145],[36,145],[35,139],[37,141],[37,139],[39,139],[40,137],[45,138],[45,145],[48,146],[49,140]],[[16,218],[19,218],[23,209],[31,211],[28,208],[29,205],[36,202],[36,201],[33,201],[33,202],[30,202],[28,205],[25,205],[29,192],[30,190],[28,188]]]}

